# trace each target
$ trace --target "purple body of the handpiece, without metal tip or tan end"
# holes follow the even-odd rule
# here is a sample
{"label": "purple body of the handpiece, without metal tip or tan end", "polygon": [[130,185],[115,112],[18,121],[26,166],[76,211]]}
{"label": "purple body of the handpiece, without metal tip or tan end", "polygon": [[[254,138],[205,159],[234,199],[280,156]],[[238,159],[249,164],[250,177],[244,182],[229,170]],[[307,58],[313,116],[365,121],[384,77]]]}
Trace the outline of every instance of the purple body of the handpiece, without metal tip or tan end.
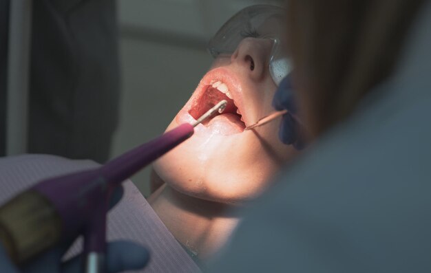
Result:
{"label": "purple body of the handpiece, without metal tip or tan end", "polygon": [[191,135],[193,126],[181,124],[104,166],[83,173],[87,176],[85,179],[72,175],[74,182],[70,182],[69,177],[59,177],[35,187],[52,200],[61,215],[63,239],[73,237],[77,230],[84,228],[85,272],[104,272],[107,201],[114,188]]}

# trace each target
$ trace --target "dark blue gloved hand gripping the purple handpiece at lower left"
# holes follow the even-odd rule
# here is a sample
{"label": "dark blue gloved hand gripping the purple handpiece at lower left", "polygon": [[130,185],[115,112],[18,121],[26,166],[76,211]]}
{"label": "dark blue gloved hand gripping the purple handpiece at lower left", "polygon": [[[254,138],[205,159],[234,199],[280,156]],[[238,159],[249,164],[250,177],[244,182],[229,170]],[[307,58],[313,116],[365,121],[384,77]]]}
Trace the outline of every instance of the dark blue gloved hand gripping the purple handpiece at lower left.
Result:
{"label": "dark blue gloved hand gripping the purple handpiece at lower left", "polygon": [[[123,196],[123,188],[118,187],[110,200],[110,208],[115,206]],[[61,261],[61,257],[70,247],[70,244],[59,245],[56,248],[49,250],[39,259],[25,265],[22,268],[16,267],[6,254],[3,245],[0,243],[0,272],[23,272],[23,273],[77,273],[82,272],[81,259],[78,255],[68,261]],[[143,268],[148,261],[148,251],[141,245],[129,241],[114,241],[107,243],[107,272],[121,272],[126,270],[137,270]]]}

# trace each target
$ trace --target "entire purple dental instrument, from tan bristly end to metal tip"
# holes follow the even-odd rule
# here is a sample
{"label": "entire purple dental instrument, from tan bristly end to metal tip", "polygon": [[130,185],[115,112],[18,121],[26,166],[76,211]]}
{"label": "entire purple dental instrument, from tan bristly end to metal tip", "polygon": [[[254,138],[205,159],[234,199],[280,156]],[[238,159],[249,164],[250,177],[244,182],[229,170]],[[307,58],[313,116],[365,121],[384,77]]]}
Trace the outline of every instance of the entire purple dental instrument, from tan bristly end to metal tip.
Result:
{"label": "entire purple dental instrument, from tan bristly end to metal tip", "polygon": [[226,106],[222,100],[193,124],[180,124],[103,166],[44,179],[2,204],[0,243],[10,259],[24,265],[83,234],[83,270],[104,272],[107,200],[114,188],[190,138],[194,127]]}

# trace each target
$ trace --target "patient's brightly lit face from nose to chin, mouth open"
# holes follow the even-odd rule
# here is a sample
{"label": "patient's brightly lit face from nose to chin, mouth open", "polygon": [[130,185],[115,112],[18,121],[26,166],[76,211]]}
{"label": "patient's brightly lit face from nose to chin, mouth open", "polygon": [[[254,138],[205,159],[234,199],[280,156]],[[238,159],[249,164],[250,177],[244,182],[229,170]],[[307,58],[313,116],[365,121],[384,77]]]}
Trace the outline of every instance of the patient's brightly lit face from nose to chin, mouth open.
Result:
{"label": "patient's brightly lit face from nose to chin, mouth open", "polygon": [[229,56],[217,58],[167,130],[193,122],[220,100],[227,109],[199,124],[194,135],[154,164],[156,173],[181,193],[223,203],[259,195],[295,154],[278,140],[280,122],[244,128],[275,111],[269,74],[272,43],[247,38]]}

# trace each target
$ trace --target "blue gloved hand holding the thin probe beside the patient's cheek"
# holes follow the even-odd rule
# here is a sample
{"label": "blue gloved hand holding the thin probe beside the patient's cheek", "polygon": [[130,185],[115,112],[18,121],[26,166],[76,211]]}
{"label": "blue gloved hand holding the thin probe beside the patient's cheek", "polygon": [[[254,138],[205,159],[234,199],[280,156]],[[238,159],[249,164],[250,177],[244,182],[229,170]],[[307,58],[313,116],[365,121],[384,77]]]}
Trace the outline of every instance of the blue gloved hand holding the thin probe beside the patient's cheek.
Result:
{"label": "blue gloved hand holding the thin probe beside the patient's cheek", "polygon": [[273,107],[277,111],[288,110],[288,113],[283,115],[278,138],[284,144],[292,144],[297,150],[304,149],[304,126],[295,116],[297,107],[293,98],[290,74],[280,82],[275,91]]}

